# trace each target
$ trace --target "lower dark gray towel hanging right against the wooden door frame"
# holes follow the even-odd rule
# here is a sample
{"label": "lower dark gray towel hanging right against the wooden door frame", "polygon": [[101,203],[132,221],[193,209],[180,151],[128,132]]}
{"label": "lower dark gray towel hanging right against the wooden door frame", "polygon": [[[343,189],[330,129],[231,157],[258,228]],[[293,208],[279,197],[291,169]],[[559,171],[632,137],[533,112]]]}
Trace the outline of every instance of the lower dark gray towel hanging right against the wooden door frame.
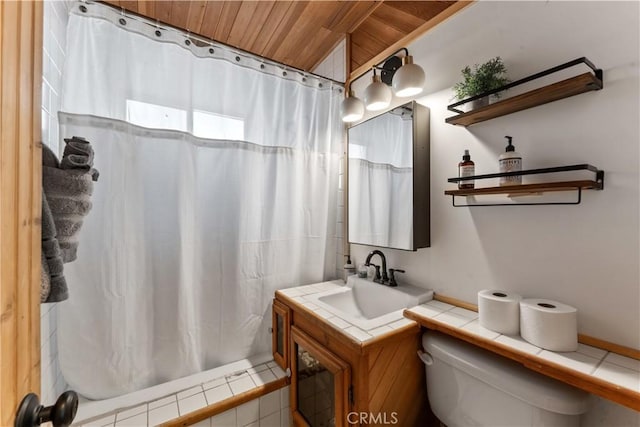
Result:
{"label": "lower dark gray towel hanging right against the wooden door frame", "polygon": [[42,193],[42,280],[40,302],[64,301],[69,297],[63,275],[62,252],[56,238],[56,226],[49,203]]}

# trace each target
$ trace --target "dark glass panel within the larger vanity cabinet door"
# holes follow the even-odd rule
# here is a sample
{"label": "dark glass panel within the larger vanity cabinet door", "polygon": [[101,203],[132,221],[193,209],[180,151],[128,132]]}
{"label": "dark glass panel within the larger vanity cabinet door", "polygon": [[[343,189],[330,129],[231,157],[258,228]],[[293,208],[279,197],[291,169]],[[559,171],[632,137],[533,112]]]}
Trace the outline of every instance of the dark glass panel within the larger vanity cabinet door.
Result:
{"label": "dark glass panel within the larger vanity cabinet door", "polygon": [[302,345],[297,345],[297,406],[309,425],[335,425],[334,375]]}

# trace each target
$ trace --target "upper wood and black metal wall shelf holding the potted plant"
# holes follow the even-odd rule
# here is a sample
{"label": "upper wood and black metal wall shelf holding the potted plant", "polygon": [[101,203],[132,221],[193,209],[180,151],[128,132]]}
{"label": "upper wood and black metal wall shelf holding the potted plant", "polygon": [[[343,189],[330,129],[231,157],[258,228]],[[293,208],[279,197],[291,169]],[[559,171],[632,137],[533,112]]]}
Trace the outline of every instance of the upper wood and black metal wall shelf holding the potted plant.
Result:
{"label": "upper wood and black metal wall shelf holding the potted plant", "polygon": [[[463,112],[462,110],[456,108],[468,102],[497,94],[507,89],[511,89],[524,83],[528,83],[532,80],[557,73],[558,71],[574,67],[579,64],[587,65],[593,72],[580,74],[575,77],[541,87],[539,89],[534,89],[520,95],[503,99],[501,101],[477,108],[472,111]],[[602,87],[602,70],[597,69],[591,61],[589,61],[585,57],[582,57],[509,83],[492,91],[481,93],[480,95],[463,99],[462,101],[456,102],[455,104],[451,104],[447,107],[447,109],[459,114],[445,119],[445,122],[452,125],[460,125],[465,127],[471,126],[476,123],[484,122],[485,120],[490,120],[496,117],[515,113],[516,111],[537,107],[538,105],[557,101],[563,98],[568,98],[574,95],[579,95],[584,92],[600,90],[602,89]]]}

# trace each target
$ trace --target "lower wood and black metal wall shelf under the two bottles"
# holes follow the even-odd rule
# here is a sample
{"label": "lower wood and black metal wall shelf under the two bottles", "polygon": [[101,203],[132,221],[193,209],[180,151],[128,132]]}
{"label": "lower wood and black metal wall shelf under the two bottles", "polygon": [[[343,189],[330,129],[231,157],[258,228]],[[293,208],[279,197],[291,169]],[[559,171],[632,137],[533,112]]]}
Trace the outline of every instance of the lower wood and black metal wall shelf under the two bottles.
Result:
{"label": "lower wood and black metal wall shelf under the two bottles", "polygon": [[[594,179],[582,179],[572,181],[552,181],[542,182],[535,184],[519,184],[519,185],[504,185],[500,187],[482,187],[482,188],[465,188],[459,190],[446,190],[445,195],[451,196],[453,206],[526,206],[526,205],[577,205],[582,201],[582,190],[602,190],[604,189],[604,171],[597,169],[595,166],[589,164],[579,164],[571,166],[557,166],[552,168],[541,169],[528,169],[518,172],[503,172],[503,173],[491,173],[486,175],[475,175],[465,178],[449,178],[448,182],[457,183],[467,180],[483,180],[489,178],[500,178],[503,176],[518,176],[518,175],[540,175],[547,173],[558,172],[570,172],[586,170],[593,172]],[[562,202],[524,202],[524,203],[468,203],[464,205],[456,204],[456,196],[468,197],[468,196],[482,196],[482,195],[513,195],[513,196],[528,196],[538,195],[547,192],[557,191],[576,191],[577,199],[571,201]]]}

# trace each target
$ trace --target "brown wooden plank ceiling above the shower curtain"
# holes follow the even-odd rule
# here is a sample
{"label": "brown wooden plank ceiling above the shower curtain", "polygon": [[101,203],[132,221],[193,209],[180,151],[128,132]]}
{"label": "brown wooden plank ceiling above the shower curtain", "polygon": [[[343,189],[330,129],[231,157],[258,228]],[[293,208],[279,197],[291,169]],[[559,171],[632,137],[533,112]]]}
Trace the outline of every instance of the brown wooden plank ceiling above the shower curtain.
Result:
{"label": "brown wooden plank ceiling above the shower curtain", "polygon": [[456,2],[108,0],[105,3],[311,71],[347,34],[351,35],[350,69],[354,70]]}

